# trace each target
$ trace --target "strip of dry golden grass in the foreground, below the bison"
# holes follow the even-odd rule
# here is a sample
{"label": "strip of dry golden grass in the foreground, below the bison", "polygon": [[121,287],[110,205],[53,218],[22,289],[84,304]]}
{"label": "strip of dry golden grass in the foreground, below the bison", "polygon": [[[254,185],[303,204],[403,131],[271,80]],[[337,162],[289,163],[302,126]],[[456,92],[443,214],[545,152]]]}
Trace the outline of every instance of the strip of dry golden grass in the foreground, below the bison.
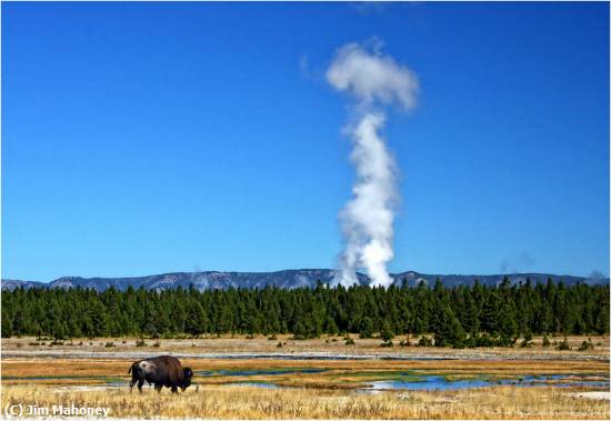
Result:
{"label": "strip of dry golden grass in the foreground, below the bison", "polygon": [[10,404],[109,407],[111,417],[213,419],[609,419],[609,401],[571,394],[577,389],[495,387],[444,392],[362,394],[329,390],[202,387],[172,395],[152,390],[58,390],[4,387]]}

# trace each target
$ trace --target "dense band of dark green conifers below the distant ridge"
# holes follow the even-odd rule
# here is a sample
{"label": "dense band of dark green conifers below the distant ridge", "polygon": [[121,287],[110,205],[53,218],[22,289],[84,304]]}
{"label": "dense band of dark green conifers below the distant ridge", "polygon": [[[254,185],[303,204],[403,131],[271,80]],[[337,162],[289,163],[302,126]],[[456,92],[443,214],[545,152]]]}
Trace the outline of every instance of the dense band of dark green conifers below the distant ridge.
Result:
{"label": "dense band of dark green conifers below the distant ridge", "polygon": [[2,292],[2,337],[197,337],[202,334],[359,333],[384,339],[432,334],[435,345],[510,344],[532,334],[609,333],[609,288],[587,284],[499,287],[229,289]]}

